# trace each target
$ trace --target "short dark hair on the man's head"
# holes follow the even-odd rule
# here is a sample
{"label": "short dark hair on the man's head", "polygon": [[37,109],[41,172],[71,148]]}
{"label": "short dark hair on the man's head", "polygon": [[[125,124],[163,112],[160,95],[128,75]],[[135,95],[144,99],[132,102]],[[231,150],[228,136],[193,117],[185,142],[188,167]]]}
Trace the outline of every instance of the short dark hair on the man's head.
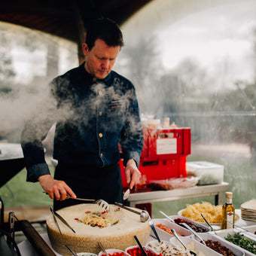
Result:
{"label": "short dark hair on the man's head", "polygon": [[85,43],[89,47],[89,50],[93,48],[96,39],[102,39],[109,47],[122,47],[124,45],[123,34],[117,26],[117,23],[108,18],[93,20],[87,26]]}

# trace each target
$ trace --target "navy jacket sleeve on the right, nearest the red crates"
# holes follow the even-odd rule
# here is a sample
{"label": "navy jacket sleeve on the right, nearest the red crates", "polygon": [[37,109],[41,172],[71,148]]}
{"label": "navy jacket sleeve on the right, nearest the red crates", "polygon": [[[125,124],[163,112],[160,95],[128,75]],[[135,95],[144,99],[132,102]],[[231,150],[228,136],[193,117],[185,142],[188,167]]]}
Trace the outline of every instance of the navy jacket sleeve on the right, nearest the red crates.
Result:
{"label": "navy jacket sleeve on the right, nearest the red crates", "polygon": [[143,148],[142,122],[139,116],[139,105],[136,97],[136,90],[131,84],[128,90],[128,105],[126,109],[126,120],[121,133],[120,145],[123,151],[123,165],[133,159],[139,167],[139,159]]}

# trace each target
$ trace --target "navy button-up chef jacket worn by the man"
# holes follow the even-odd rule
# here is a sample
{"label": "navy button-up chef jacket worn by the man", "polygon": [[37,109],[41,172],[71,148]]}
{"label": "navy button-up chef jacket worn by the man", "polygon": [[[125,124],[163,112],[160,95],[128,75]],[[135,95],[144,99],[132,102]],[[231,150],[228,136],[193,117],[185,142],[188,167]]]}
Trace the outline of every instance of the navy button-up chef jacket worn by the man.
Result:
{"label": "navy button-up chef jacket worn by the man", "polygon": [[[53,158],[64,163],[111,166],[136,160],[143,148],[142,124],[133,84],[111,71],[102,80],[87,73],[84,63],[50,83],[50,96],[26,123],[21,145],[27,181],[50,174],[41,140],[56,122]],[[53,104],[54,102],[54,104]]]}

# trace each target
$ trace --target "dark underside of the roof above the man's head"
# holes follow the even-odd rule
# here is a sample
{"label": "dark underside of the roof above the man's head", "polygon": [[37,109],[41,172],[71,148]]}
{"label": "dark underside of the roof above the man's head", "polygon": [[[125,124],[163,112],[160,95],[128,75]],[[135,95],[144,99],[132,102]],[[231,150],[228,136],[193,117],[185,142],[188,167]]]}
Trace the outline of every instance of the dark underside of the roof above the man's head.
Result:
{"label": "dark underside of the roof above the man's head", "polygon": [[81,26],[95,17],[121,25],[153,0],[9,0],[1,3],[0,21],[79,41]]}

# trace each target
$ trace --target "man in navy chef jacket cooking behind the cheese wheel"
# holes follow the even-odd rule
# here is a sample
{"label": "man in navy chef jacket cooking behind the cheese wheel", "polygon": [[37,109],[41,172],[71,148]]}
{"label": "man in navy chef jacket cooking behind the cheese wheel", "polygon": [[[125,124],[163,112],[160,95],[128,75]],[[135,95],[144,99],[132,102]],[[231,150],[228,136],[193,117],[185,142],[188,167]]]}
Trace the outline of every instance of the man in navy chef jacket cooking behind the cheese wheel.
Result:
{"label": "man in navy chef jacket cooking behind the cheese wheel", "polygon": [[[86,61],[53,79],[46,102],[41,100],[23,130],[27,181],[40,182],[54,209],[81,203],[76,197],[123,203],[119,146],[127,183],[131,189],[139,183],[143,133],[136,90],[112,71],[121,47],[123,35],[114,21],[93,20],[83,44]],[[53,123],[54,178],[42,145]]]}

